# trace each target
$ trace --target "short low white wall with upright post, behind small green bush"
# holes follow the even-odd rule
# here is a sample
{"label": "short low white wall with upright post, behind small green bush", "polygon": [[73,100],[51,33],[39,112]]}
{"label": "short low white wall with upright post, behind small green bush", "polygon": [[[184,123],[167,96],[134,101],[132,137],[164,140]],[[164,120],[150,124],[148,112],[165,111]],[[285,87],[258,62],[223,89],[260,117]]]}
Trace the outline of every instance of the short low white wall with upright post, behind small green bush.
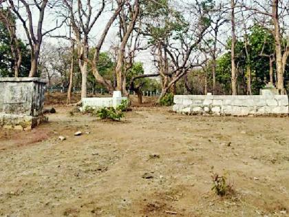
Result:
{"label": "short low white wall with upright post, behind small green bush", "polygon": [[83,98],[83,110],[87,107],[92,107],[94,109],[100,107],[118,107],[122,100],[127,100],[127,97],[122,97],[120,91],[114,91],[112,97],[91,97],[91,98]]}

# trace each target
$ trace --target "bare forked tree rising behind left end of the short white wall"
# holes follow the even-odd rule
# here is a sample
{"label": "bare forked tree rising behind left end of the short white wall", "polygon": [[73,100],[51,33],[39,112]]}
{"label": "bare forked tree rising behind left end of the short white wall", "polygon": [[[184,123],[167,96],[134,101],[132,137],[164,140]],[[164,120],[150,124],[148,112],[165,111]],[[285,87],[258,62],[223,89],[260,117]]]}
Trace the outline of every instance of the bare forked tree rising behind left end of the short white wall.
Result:
{"label": "bare forked tree rising behind left end of the short white wall", "polygon": [[78,49],[78,64],[81,69],[82,82],[81,82],[81,98],[87,96],[87,66],[88,64],[92,67],[92,73],[94,74],[96,81],[107,87],[109,91],[113,90],[113,87],[110,81],[106,80],[98,72],[97,63],[99,59],[100,49],[105,41],[107,32],[111,27],[112,23],[118,16],[118,13],[122,9],[125,0],[116,0],[117,8],[112,13],[110,19],[107,21],[103,32],[100,34],[100,39],[94,47],[94,58],[89,59],[89,32],[91,32],[94,24],[100,18],[105,10],[107,2],[105,0],[101,1],[100,7],[97,12],[93,12],[93,8],[96,8],[92,5],[90,0],[86,1],[84,4],[81,0],[77,0],[76,7],[72,0],[63,0],[65,7],[69,10],[70,21],[72,29],[76,37],[76,44]]}

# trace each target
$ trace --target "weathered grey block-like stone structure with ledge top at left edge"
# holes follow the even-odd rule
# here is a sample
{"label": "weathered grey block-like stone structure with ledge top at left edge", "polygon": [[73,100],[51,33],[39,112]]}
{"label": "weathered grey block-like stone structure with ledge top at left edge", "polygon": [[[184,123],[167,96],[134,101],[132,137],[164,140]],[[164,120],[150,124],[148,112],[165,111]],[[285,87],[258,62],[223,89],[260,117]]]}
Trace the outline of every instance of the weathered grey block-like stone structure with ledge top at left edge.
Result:
{"label": "weathered grey block-like stone structure with ledge top at left edge", "polygon": [[0,78],[0,126],[31,128],[43,117],[45,81],[39,78]]}

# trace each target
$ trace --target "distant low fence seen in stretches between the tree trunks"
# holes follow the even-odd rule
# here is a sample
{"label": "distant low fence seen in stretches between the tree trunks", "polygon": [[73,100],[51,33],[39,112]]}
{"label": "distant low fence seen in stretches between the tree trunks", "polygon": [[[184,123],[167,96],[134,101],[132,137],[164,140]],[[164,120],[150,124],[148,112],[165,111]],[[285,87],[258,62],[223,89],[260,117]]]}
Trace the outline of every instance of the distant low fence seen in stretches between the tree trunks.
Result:
{"label": "distant low fence seen in stretches between the tree trunks", "polygon": [[[68,88],[67,87],[61,87],[61,86],[50,86],[45,87],[45,92],[50,93],[67,93]],[[78,93],[81,92],[80,87],[72,87],[72,92]],[[109,94],[109,92],[106,89],[103,88],[92,88],[87,89],[88,94]],[[129,94],[136,95],[136,92],[129,90]],[[151,90],[144,90],[142,91],[143,96],[160,96],[160,91],[151,91]]]}

